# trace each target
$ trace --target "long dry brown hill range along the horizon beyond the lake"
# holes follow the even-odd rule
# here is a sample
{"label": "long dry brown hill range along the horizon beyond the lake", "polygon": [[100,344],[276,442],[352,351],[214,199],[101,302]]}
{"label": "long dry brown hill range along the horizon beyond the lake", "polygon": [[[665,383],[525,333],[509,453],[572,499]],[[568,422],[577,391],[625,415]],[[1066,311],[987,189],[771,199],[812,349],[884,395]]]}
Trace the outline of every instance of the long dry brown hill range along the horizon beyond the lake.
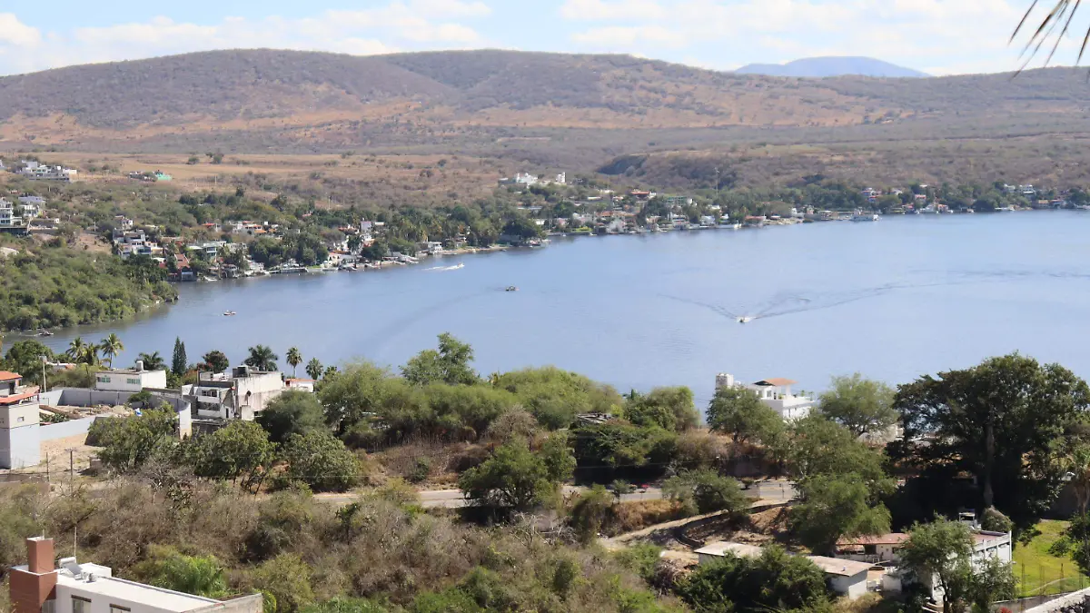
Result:
{"label": "long dry brown hill range along the horizon beyond the lake", "polygon": [[800,80],[629,56],[210,51],[2,77],[0,146],[601,165],[739,144],[1069,137],[1090,132],[1088,91],[1074,69]]}

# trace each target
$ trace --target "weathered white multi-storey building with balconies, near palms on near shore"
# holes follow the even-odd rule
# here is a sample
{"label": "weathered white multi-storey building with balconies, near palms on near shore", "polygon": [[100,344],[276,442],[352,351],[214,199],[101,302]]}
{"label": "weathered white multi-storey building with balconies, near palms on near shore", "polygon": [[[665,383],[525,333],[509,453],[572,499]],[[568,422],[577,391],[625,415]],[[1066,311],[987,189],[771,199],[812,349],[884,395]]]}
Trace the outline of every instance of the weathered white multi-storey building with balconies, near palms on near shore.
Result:
{"label": "weathered white multi-storey building with balconies, near palms on near shore", "polygon": [[235,366],[226,373],[199,373],[196,383],[182,386],[182,396],[193,402],[195,419],[253,421],[287,388],[280,372]]}

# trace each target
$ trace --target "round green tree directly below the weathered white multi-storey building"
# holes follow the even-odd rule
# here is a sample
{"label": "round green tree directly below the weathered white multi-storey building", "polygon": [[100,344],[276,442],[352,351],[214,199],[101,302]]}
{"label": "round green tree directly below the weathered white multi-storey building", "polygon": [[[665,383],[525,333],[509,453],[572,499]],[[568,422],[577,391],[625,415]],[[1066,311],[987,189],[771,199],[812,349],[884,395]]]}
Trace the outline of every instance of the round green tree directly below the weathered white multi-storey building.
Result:
{"label": "round green tree directly below the weathered white multi-storey building", "polygon": [[197,477],[241,481],[244,490],[256,492],[276,459],[276,446],[258,423],[232,421],[193,438],[186,456]]}

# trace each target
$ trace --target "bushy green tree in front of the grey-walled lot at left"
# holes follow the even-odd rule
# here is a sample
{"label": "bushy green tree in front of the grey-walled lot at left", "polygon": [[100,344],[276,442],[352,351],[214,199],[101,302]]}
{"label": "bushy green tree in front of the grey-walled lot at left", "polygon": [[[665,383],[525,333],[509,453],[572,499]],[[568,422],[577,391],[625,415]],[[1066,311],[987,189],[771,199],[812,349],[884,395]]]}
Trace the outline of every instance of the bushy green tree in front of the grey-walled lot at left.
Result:
{"label": "bushy green tree in front of the grey-walled lot at left", "polygon": [[149,409],[142,416],[96,420],[87,437],[102,447],[98,457],[104,465],[119,472],[132,472],[177,443],[177,425],[173,412]]}

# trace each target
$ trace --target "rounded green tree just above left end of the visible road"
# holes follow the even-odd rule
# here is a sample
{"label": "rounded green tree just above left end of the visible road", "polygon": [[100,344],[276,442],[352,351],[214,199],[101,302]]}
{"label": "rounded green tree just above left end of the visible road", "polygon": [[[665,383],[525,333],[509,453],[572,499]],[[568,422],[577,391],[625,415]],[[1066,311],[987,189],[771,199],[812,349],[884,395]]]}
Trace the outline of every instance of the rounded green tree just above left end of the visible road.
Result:
{"label": "rounded green tree just above left end of the visible road", "polygon": [[315,492],[343,492],[360,482],[360,461],[329,432],[292,434],[284,446],[288,478]]}

